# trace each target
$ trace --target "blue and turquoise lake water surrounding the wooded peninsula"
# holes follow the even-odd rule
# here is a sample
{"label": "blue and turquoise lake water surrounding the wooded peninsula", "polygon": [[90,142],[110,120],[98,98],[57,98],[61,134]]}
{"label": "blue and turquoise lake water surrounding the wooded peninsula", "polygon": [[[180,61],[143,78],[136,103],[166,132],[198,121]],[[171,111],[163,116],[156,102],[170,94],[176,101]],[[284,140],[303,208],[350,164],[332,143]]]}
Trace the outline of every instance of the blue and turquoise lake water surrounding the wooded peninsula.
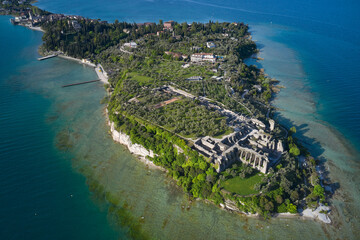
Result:
{"label": "blue and turquoise lake water surrounding the wooded peninsula", "polygon": [[[101,84],[68,91],[59,88],[61,83],[91,80],[93,71],[61,59],[42,63],[35,61],[34,47],[39,44],[41,34],[9,26],[4,18],[2,32],[9,32],[14,37],[4,39],[6,43],[11,42],[11,48],[4,49],[13,52],[1,62],[3,71],[9,74],[1,78],[1,107],[4,107],[1,111],[4,115],[1,116],[4,117],[0,121],[1,126],[15,124],[2,127],[0,134],[0,159],[3,156],[9,159],[1,163],[4,169],[1,177],[7,187],[0,188],[1,193],[4,192],[1,196],[6,196],[0,200],[4,201],[2,206],[10,206],[1,210],[1,216],[14,216],[9,222],[3,220],[3,225],[7,226],[5,229],[8,229],[4,232],[6,238],[21,239],[24,233],[16,233],[18,228],[30,229],[27,234],[32,238],[44,236],[41,235],[43,232],[47,236],[59,235],[59,238],[122,238],[127,228],[114,225],[112,215],[107,216],[107,205],[102,201],[101,192],[111,192],[119,205],[127,202],[127,210],[133,220],[154,238],[356,239],[360,226],[357,204],[360,199],[357,187],[360,182],[357,174],[359,155],[348,145],[357,145],[357,133],[360,132],[357,107],[357,91],[360,88],[356,87],[360,69],[356,61],[359,47],[354,44],[359,39],[359,33],[356,29],[349,31],[359,22],[353,14],[358,3],[339,6],[331,1],[327,2],[325,10],[320,8],[321,2],[314,6],[306,2],[292,5],[279,1],[262,6],[257,1],[224,1],[220,7],[211,1],[108,0],[108,3],[87,1],[84,4],[79,1],[72,3],[71,12],[67,1],[42,0],[38,4],[55,12],[107,20],[157,21],[162,18],[250,22],[254,39],[262,50],[260,56],[265,58],[261,67],[286,87],[274,102],[280,109],[277,118],[288,126],[298,127],[298,136],[314,155],[326,159],[330,177],[341,186],[333,201],[336,207],[332,213],[335,224],[324,226],[295,219],[262,221],[243,218],[202,202],[192,203],[189,211],[182,210],[182,206],[186,207],[189,203],[164,173],[148,171],[141,162],[111,141],[99,104],[104,95]],[[279,11],[278,4],[283,4],[287,16]],[[308,11],[299,11],[297,5]],[[304,12],[310,16],[304,16]],[[273,24],[269,24],[270,21]],[[327,31],[329,28],[336,29],[337,34]],[[27,37],[21,38],[23,34]],[[14,93],[30,94],[31,97],[22,99]],[[17,115],[12,118],[12,114]],[[19,129],[18,135],[12,133],[13,129]],[[41,135],[40,142],[26,140],[26,136],[34,134]],[[59,151],[56,143],[67,138],[72,147],[66,152]],[[24,146],[24,149],[19,146]],[[38,152],[29,154],[29,149],[39,146]],[[43,161],[34,161],[38,156],[42,156]],[[26,165],[29,164],[27,159],[37,165]],[[15,161],[19,164],[14,165]],[[29,170],[20,171],[18,166]],[[33,174],[33,169],[36,169],[36,174]],[[40,185],[32,186],[32,178],[40,179]],[[91,192],[87,190],[85,179]],[[21,184],[24,182],[28,185],[23,187]],[[94,185],[100,187],[94,191]],[[39,189],[45,189],[45,194],[32,194]],[[71,194],[73,197],[67,199]],[[78,205],[72,205],[74,199],[77,199]],[[14,209],[17,212],[14,213]],[[38,209],[44,210],[41,215],[37,213]],[[35,213],[42,216],[42,221],[34,221],[36,218],[32,215],[35,216]],[[141,220],[142,216],[144,220]],[[99,227],[94,228],[95,225]]]}

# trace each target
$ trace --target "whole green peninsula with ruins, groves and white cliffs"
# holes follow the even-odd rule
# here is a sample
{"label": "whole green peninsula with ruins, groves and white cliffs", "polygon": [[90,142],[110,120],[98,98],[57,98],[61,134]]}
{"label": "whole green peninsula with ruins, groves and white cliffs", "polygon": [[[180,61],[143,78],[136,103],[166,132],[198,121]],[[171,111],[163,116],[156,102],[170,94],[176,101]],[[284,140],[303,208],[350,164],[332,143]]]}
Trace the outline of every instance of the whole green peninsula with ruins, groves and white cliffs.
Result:
{"label": "whole green peninsula with ruins, groves and white cliffs", "polygon": [[272,119],[278,82],[244,61],[258,52],[248,25],[108,23],[11,0],[0,12],[43,30],[42,54],[106,73],[114,140],[165,169],[190,198],[248,215],[330,222],[317,161],[294,127]]}

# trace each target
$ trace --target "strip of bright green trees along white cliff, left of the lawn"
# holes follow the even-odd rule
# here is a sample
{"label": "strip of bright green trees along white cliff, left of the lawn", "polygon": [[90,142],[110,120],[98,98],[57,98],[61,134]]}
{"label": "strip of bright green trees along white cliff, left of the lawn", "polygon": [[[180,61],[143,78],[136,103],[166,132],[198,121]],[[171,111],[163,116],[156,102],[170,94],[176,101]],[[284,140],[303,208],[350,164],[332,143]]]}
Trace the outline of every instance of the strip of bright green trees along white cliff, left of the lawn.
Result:
{"label": "strip of bright green trees along white cliff, left of the lawn", "polygon": [[[214,168],[206,159],[192,150],[185,140],[151,124],[139,124],[132,116],[111,115],[118,130],[128,134],[133,143],[138,143],[154,151],[151,159],[156,165],[169,171],[185,192],[195,198],[213,199],[222,202],[219,189],[213,188],[217,181]],[[178,152],[183,149],[183,153]],[[216,185],[215,185],[216,186]]]}

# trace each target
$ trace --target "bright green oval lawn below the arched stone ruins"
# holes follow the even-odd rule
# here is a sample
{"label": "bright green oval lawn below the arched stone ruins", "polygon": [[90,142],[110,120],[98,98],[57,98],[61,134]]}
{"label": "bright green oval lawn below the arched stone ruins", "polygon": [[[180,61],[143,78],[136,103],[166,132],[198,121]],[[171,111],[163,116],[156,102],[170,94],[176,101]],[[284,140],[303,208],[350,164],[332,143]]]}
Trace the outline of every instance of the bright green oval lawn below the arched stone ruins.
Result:
{"label": "bright green oval lawn below the arched stone ruins", "polygon": [[258,182],[261,182],[263,176],[263,174],[257,173],[245,179],[242,179],[240,177],[234,177],[223,182],[221,186],[225,190],[237,193],[239,195],[256,194],[259,193],[259,191],[254,190],[254,185]]}

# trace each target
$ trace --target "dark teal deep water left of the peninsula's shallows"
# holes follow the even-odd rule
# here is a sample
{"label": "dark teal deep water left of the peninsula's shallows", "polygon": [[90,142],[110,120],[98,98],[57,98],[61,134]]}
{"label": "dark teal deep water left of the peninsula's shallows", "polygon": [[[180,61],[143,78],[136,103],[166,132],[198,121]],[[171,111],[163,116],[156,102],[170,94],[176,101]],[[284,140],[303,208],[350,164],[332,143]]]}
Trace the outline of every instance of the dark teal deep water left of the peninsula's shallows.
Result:
{"label": "dark teal deep water left of the peninsula's shallows", "polygon": [[[36,60],[42,34],[9,19],[0,16],[0,239],[117,239],[72,156],[55,147],[63,126],[55,125],[53,99],[32,87],[56,84],[62,74],[48,75],[53,64]],[[61,67],[75,79],[94,77],[74,64]]]}

